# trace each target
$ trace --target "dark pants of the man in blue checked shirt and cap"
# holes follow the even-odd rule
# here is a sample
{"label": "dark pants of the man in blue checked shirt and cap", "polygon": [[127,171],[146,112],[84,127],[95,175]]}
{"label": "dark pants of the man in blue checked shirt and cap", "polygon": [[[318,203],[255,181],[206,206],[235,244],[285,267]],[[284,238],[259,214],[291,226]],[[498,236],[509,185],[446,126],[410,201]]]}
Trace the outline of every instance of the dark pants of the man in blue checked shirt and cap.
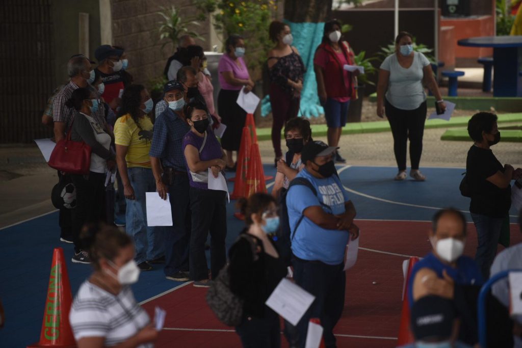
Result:
{"label": "dark pants of the man in blue checked shirt and cap", "polygon": [[[173,226],[165,229],[165,275],[188,270],[188,245],[191,237],[191,210],[188,176],[176,174],[169,185]],[[157,227],[158,228],[158,227]]]}

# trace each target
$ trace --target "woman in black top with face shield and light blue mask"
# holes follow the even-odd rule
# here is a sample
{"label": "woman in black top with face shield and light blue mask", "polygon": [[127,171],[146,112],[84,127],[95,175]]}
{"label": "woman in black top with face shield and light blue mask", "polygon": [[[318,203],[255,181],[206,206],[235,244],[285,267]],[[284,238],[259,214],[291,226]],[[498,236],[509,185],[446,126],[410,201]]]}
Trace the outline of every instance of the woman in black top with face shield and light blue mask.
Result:
{"label": "woman in black top with face shield and light blue mask", "polygon": [[246,223],[241,234],[251,242],[238,238],[229,251],[230,290],[244,301],[243,321],[235,331],[244,347],[279,348],[279,316],[265,305],[287,274],[272,241],[279,228],[276,201],[270,195],[256,193],[248,200],[239,200],[238,206]]}

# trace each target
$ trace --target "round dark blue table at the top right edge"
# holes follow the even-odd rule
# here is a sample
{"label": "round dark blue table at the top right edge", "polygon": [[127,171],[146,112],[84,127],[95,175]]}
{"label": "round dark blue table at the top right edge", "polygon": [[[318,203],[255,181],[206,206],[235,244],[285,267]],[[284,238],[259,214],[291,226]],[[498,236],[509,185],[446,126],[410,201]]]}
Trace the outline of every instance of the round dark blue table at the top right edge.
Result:
{"label": "round dark blue table at the top right edge", "polygon": [[[459,46],[493,47],[493,96],[522,97],[522,36],[485,36],[462,39]],[[478,58],[478,57],[477,57]]]}

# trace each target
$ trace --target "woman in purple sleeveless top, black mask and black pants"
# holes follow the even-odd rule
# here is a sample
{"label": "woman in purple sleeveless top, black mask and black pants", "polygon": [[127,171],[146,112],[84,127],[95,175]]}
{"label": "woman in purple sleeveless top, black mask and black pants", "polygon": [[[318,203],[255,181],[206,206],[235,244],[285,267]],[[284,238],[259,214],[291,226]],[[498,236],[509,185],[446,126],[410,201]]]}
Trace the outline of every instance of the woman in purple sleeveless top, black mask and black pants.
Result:
{"label": "woman in purple sleeveless top, black mask and black pants", "polygon": [[[208,176],[218,177],[225,154],[211,131],[203,104],[188,103],[184,114],[191,130],[183,137],[183,152],[190,182],[192,231],[189,250],[190,277],[196,287],[209,287],[205,242],[210,232],[210,271],[218,276],[226,262],[227,193],[208,188]],[[210,170],[210,173],[209,173]]]}

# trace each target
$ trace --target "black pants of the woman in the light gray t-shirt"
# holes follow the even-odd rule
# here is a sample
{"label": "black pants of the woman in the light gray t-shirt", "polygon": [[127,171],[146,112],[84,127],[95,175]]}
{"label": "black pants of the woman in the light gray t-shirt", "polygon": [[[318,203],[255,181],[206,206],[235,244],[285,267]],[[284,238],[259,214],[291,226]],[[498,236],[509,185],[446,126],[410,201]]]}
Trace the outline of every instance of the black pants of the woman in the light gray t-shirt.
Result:
{"label": "black pants of the woman in the light gray t-shirt", "polygon": [[386,117],[392,128],[395,160],[399,171],[406,170],[406,149],[410,139],[411,169],[419,169],[422,155],[422,137],[426,121],[426,102],[415,110],[401,110],[385,102]]}

